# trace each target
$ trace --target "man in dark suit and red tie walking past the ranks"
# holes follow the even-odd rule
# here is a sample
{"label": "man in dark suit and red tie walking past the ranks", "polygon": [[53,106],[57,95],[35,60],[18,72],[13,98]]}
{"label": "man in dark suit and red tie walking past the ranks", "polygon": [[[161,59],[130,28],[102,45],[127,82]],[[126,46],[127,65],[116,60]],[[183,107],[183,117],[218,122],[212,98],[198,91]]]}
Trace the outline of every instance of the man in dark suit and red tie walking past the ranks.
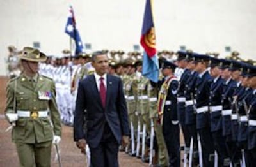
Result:
{"label": "man in dark suit and red tie walking past the ranks", "polygon": [[104,52],[93,53],[92,66],[95,73],[79,82],[74,140],[82,152],[88,143],[93,167],[118,166],[118,146],[129,140],[122,81],[107,74],[108,57]]}

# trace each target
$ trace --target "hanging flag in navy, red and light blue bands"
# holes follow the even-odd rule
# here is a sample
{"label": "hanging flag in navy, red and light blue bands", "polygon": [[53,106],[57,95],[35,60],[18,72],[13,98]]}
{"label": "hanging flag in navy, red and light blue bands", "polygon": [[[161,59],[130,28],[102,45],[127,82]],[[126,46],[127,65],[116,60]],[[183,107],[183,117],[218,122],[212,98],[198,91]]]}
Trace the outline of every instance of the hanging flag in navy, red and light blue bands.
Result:
{"label": "hanging flag in navy, red and light blue bands", "polygon": [[145,50],[143,53],[142,75],[153,82],[157,82],[159,77],[159,63],[156,55],[156,34],[152,1],[146,0],[140,43]]}

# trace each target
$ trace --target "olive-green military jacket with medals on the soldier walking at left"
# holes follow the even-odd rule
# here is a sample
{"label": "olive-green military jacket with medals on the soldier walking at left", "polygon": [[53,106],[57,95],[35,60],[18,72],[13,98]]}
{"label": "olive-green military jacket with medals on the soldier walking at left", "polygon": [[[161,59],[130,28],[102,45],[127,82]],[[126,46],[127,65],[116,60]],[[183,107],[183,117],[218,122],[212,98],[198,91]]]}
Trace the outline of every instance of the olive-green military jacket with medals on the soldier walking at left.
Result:
{"label": "olive-green military jacket with medals on the soldier walking at left", "polygon": [[15,143],[51,141],[53,133],[61,136],[60,113],[56,104],[54,82],[51,78],[42,75],[36,78],[37,80],[32,83],[22,74],[10,80],[6,88],[5,113],[49,111],[49,117],[19,117],[12,130],[12,141]]}

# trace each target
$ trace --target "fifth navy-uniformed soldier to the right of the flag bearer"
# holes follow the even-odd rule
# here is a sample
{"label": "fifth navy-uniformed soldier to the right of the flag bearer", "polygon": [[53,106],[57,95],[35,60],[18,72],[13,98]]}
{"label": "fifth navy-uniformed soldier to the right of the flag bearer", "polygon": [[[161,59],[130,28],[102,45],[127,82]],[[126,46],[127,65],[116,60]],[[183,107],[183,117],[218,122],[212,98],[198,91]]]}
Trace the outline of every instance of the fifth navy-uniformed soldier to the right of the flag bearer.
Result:
{"label": "fifth navy-uniformed soldier to the right of the flag bearer", "polygon": [[235,159],[232,159],[232,152],[235,151],[236,143],[232,140],[232,131],[231,131],[231,115],[232,115],[232,98],[234,91],[236,91],[236,82],[232,80],[230,66],[232,64],[231,61],[226,59],[221,59],[223,63],[223,71],[221,73],[221,77],[225,80],[223,83],[223,92],[222,92],[222,126],[223,126],[223,137],[226,140],[226,147],[228,151],[228,157],[230,157],[233,165]]}

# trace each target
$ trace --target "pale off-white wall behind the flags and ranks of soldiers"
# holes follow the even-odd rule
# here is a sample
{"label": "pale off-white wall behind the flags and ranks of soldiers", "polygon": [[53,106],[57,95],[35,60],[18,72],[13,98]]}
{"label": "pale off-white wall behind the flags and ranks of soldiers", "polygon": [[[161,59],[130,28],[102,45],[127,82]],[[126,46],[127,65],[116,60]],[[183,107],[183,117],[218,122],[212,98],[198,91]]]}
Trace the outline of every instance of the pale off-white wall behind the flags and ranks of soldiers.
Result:
{"label": "pale off-white wall behind the flags and ranks of soldiers", "polygon": [[[40,41],[47,54],[69,48],[64,33],[68,6],[72,4],[84,43],[93,50],[133,50],[141,35],[145,0],[0,0],[0,66],[7,46],[21,49]],[[179,50],[186,45],[196,52],[225,46],[243,58],[255,59],[255,0],[155,0],[155,27],[159,50]],[[6,69],[0,68],[0,75]]]}

